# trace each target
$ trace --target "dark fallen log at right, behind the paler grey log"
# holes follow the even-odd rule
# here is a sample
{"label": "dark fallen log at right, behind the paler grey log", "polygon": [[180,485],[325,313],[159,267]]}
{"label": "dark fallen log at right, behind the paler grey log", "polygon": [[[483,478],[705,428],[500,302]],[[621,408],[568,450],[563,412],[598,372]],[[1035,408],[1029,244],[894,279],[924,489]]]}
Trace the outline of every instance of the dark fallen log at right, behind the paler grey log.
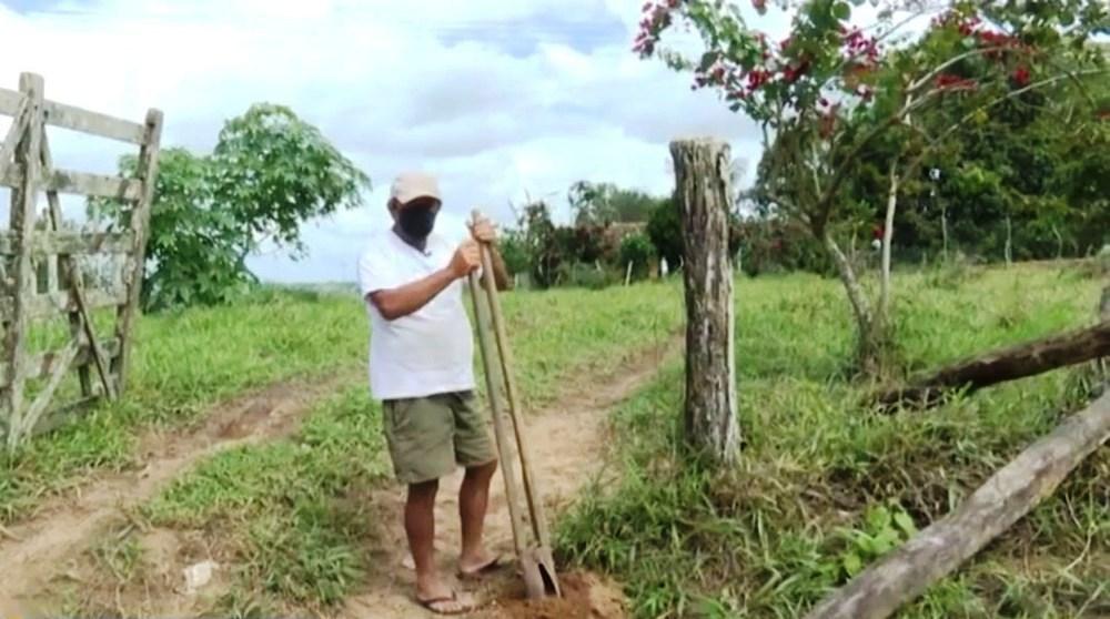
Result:
{"label": "dark fallen log at right, behind the paler grey log", "polygon": [[1110,356],[1110,321],[949,365],[910,385],[880,392],[872,402],[886,410],[899,404],[928,408],[958,389],[973,392],[1106,356]]}

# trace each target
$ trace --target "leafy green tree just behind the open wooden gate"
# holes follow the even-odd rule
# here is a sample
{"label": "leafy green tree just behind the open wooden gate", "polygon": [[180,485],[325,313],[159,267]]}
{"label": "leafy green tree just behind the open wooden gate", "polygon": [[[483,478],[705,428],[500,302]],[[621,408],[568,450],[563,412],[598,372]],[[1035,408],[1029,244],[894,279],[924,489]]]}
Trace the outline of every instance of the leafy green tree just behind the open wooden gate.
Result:
{"label": "leafy green tree just behind the open wooden gate", "polygon": [[[133,176],[137,159],[121,159]],[[370,180],[311,124],[280,105],[256,104],[228,121],[214,153],[161,153],[151,207],[143,306],[162,310],[231,301],[255,277],[246,257],[264,242],[302,255],[305,220],[362,203]],[[90,216],[125,225],[112,200]]]}

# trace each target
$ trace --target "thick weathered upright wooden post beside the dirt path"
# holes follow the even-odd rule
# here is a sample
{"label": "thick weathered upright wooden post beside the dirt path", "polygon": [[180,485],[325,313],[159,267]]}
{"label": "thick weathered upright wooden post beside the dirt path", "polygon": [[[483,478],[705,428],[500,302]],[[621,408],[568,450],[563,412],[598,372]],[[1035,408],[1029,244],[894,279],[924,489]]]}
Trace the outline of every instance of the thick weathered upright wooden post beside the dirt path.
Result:
{"label": "thick weathered upright wooden post beside the dirt path", "polygon": [[686,284],[686,439],[698,453],[729,464],[739,444],[728,260],[729,148],[709,140],[675,141],[670,153]]}

